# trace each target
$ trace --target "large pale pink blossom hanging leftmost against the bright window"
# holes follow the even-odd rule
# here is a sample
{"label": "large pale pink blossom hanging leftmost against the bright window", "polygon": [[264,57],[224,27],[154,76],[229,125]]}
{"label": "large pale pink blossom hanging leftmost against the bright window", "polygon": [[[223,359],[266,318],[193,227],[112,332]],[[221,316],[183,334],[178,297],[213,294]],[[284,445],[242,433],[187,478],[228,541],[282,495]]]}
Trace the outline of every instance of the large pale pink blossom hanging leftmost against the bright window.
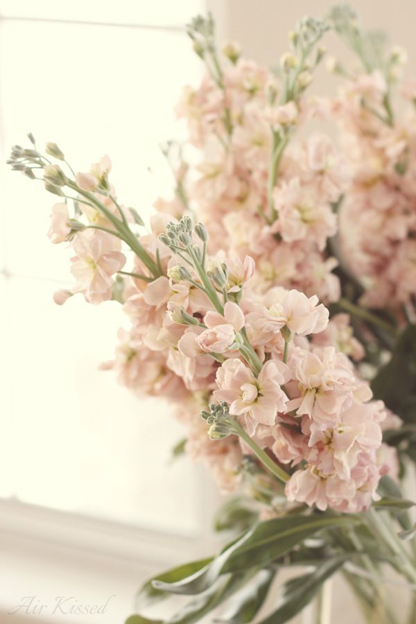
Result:
{"label": "large pale pink blossom hanging leftmost against the bright window", "polygon": [[76,290],[89,303],[99,304],[111,298],[112,276],[125,264],[120,247],[119,239],[98,230],[85,230],[76,236],[71,272],[77,281]]}

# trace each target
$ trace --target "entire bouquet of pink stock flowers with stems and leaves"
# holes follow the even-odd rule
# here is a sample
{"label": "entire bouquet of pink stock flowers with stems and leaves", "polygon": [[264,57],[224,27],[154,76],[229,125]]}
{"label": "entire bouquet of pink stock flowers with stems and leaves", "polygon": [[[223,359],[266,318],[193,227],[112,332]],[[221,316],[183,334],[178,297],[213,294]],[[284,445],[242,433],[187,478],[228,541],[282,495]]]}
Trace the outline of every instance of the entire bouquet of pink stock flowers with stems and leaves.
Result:
{"label": "entire bouquet of pink stock flowers with stems and leaves", "polygon": [[[329,60],[338,95],[309,96],[329,30],[358,67]],[[184,606],[128,623],[215,612],[279,624],[313,600],[323,622],[322,588],[340,573],[368,622],[410,624],[414,503],[402,483],[416,460],[416,83],[402,85],[397,116],[404,52],[346,6],[302,19],[278,71],[234,42],[219,52],[210,16],[188,32],[205,73],[177,105],[189,139],[163,147],[175,195],[157,200],[148,229],[119,200],[108,157],[75,173],[56,144],[43,153],[28,135],[8,161],[60,198],[49,238],[73,248],[75,284],[55,302],[120,302],[130,329],[105,367],[138,395],[168,399],[187,431],[175,454],[237,492],[216,515],[232,532],[223,550],[137,595],[137,612],[171,595]],[[340,148],[311,121],[335,124]],[[389,601],[392,582],[409,590],[408,619]]]}

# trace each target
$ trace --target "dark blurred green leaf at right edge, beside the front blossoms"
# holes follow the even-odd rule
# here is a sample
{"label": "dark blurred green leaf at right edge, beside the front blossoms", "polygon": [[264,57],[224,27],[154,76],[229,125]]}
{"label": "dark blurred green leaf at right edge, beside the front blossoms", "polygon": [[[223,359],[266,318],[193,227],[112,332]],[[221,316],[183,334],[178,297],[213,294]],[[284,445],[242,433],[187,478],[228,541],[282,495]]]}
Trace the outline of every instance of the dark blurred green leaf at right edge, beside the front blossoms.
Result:
{"label": "dark blurred green leaf at right edge, beside the front blossoms", "polygon": [[390,361],[374,377],[372,391],[407,423],[416,422],[416,324],[400,334]]}

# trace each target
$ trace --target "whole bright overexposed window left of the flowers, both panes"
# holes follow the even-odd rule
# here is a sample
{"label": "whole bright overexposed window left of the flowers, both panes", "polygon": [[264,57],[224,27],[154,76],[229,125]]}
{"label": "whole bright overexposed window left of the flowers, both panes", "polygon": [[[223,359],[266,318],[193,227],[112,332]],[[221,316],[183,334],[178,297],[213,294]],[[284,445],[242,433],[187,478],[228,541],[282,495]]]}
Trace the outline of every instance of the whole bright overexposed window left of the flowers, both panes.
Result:
{"label": "whole bright overexposed window left of the flowers, both panes", "polygon": [[[33,132],[85,171],[108,153],[121,200],[148,214],[173,184],[158,143],[200,63],[182,25],[200,0],[0,1],[2,163]],[[200,525],[198,469],[169,464],[182,437],[161,401],[139,400],[98,364],[112,357],[120,306],[52,294],[69,250],[46,239],[53,196],[1,168],[0,497],[171,532]]]}

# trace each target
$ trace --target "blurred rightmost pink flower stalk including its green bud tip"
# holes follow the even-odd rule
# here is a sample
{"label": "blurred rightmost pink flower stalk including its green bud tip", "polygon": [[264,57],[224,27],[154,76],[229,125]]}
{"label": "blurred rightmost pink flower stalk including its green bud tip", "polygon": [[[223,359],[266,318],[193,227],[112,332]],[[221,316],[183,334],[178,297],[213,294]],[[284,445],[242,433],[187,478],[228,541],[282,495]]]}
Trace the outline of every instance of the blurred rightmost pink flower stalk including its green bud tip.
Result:
{"label": "blurred rightmost pink flower stalk including its green bud tip", "polygon": [[344,79],[331,109],[350,173],[341,250],[365,291],[363,304],[397,311],[416,295],[416,85],[403,83],[407,102],[395,116],[390,96],[406,53],[361,33],[354,12],[338,10],[334,18],[363,67],[350,74],[333,61],[331,68]]}

